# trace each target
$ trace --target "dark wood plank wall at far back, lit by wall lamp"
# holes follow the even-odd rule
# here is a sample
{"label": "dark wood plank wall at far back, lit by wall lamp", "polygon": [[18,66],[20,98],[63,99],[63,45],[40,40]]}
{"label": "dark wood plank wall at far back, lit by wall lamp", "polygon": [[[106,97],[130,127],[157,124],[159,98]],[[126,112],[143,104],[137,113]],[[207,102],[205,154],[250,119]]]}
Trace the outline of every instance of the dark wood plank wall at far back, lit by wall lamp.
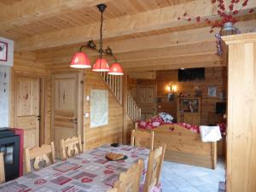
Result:
{"label": "dark wood plank wall at far back, lit by wall lamp", "polygon": [[[134,83],[130,87],[134,87]],[[226,95],[227,89],[227,70],[226,67],[207,67],[206,79],[201,82],[178,82],[177,70],[158,71],[156,73],[156,79],[154,80],[137,80],[137,84],[157,84],[157,97],[160,98],[158,103],[158,111],[164,111],[171,113],[174,117],[177,117],[177,95],[179,93],[195,94],[195,87],[198,87],[202,91],[201,100],[201,124],[209,125],[216,124],[218,122],[218,115],[215,114],[215,103],[220,102],[219,92],[224,92]],[[168,102],[166,85],[176,85],[177,94],[176,99],[173,102]],[[208,96],[208,86],[217,87],[217,96]]]}

